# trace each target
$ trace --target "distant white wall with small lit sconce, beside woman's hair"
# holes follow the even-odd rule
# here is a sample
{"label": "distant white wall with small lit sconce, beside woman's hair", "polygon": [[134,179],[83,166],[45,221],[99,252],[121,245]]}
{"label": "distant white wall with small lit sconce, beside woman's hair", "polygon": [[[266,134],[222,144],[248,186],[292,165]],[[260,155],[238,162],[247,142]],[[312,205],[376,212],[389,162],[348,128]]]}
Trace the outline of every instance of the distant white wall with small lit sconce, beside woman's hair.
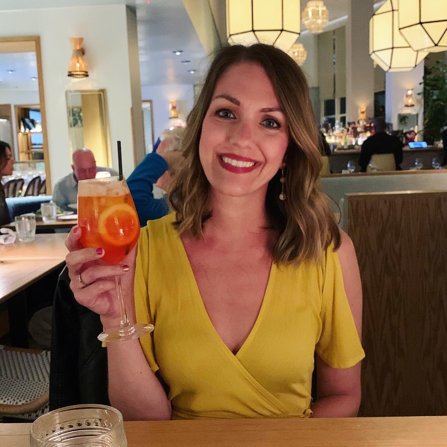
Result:
{"label": "distant white wall with small lit sconce, beside woman's hair", "polygon": [[194,105],[194,86],[192,84],[143,85],[143,101],[152,99],[154,107],[155,139],[169,127],[169,101],[177,101],[179,118],[186,120]]}

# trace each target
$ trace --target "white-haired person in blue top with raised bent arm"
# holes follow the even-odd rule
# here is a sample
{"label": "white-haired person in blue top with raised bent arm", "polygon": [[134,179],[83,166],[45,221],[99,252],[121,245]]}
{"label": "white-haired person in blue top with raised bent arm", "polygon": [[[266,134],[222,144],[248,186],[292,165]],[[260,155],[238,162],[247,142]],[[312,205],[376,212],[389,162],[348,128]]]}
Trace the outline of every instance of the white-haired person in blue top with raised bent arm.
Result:
{"label": "white-haired person in blue top with raised bent arm", "polygon": [[[169,212],[165,196],[169,193],[171,174],[184,160],[181,156],[183,132],[181,127],[162,132],[157,152],[147,154],[127,178],[141,226]],[[158,198],[154,197],[154,186],[158,188]]]}

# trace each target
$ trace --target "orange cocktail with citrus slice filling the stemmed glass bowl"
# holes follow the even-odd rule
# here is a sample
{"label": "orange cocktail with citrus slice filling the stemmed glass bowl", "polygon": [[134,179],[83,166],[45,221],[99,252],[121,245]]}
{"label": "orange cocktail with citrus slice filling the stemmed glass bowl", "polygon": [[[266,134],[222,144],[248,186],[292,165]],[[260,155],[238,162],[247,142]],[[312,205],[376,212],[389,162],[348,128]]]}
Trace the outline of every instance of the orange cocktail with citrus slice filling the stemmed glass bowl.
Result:
{"label": "orange cocktail with citrus slice filling the stemmed glass bowl", "polygon": [[101,247],[103,261],[119,264],[139,237],[138,215],[126,182],[118,177],[80,181],[78,225],[84,247]]}

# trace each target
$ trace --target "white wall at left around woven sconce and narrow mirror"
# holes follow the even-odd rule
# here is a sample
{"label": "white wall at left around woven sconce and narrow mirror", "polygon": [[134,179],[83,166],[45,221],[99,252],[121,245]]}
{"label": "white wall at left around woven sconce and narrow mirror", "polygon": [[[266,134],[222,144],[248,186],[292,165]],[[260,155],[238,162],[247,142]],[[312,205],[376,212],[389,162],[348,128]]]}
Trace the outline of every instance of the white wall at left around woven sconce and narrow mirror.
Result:
{"label": "white wall at left around woven sconce and narrow mirror", "polygon": [[[65,91],[105,89],[108,102],[113,167],[118,167],[116,141],[122,141],[123,170],[134,168],[131,126],[131,70],[125,5],[48,8],[0,12],[0,37],[41,38],[46,126],[51,183],[70,172]],[[67,77],[72,49],[69,37],[84,38],[89,77]],[[138,105],[140,107],[140,105]],[[137,148],[139,158],[144,148]],[[127,156],[128,154],[128,156]]]}

